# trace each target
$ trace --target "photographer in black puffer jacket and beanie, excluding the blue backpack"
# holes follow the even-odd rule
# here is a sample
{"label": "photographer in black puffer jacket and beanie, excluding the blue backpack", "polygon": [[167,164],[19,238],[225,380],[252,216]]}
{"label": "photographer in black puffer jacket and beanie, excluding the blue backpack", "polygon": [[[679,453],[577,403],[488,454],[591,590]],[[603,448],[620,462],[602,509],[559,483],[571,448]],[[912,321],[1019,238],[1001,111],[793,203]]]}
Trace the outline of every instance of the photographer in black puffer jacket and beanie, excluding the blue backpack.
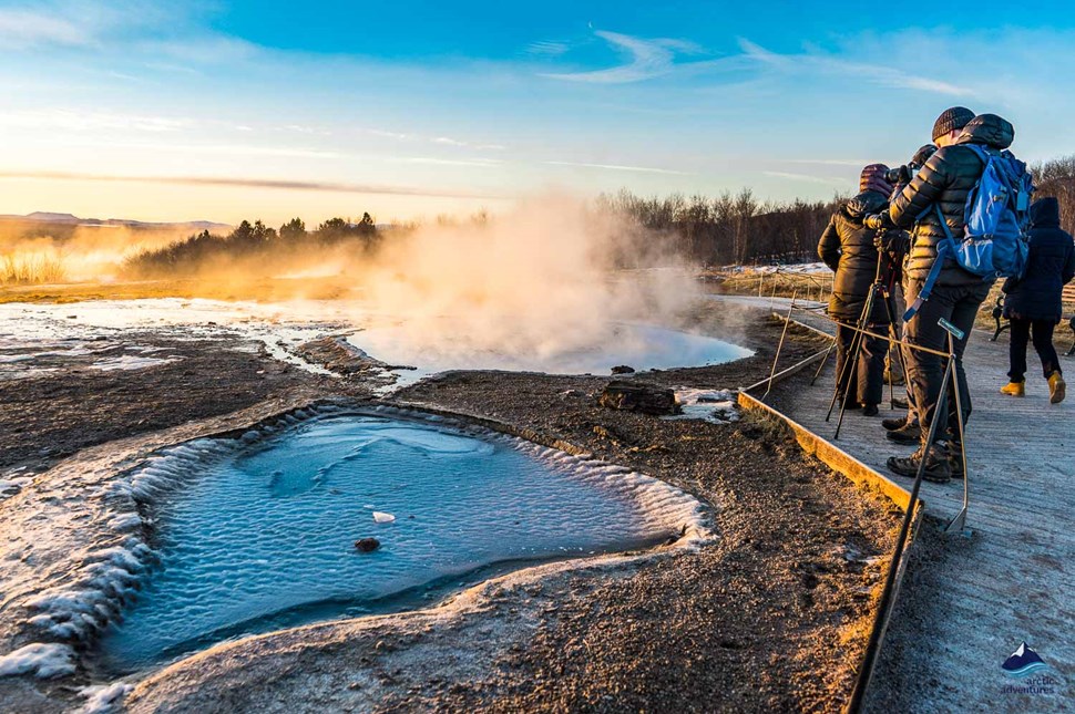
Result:
{"label": "photographer in black puffer jacket and beanie, excluding the blue backpack", "polygon": [[[938,246],[945,239],[941,220],[944,220],[953,236],[962,236],[964,232],[966,198],[985,169],[982,159],[966,145],[977,144],[986,152],[999,154],[1011,146],[1015,138],[1015,127],[1010,122],[995,114],[982,114],[968,123],[959,137],[953,139],[953,132],[943,130],[950,125],[946,120],[952,118],[948,115],[958,113],[958,110],[961,107],[953,107],[938,118],[933,134],[940,148],[903,193],[892,200],[889,208],[889,217],[894,225],[908,229],[913,226],[911,251],[905,268],[908,302],[913,302],[922,291],[936,260]],[[945,261],[929,300],[907,324],[907,341],[931,350],[945,350],[948,335],[938,324],[943,318],[963,332],[963,339],[954,343],[955,354],[962,358],[974,325],[974,317],[989,297],[993,282],[968,272],[954,261]],[[952,465],[956,462],[961,464],[955,399],[950,395],[948,400],[948,427],[939,428],[935,443],[926,444],[941,390],[944,387],[944,360],[920,350],[909,350],[909,356],[908,373],[911,389],[914,390],[923,441],[914,455],[908,458],[893,456],[889,458],[888,465],[901,476],[914,476],[924,458],[924,478],[944,483],[952,477]],[[965,424],[971,414],[971,394],[966,387],[962,359],[956,360],[955,375]],[[955,475],[960,476],[961,473],[956,470]]]}

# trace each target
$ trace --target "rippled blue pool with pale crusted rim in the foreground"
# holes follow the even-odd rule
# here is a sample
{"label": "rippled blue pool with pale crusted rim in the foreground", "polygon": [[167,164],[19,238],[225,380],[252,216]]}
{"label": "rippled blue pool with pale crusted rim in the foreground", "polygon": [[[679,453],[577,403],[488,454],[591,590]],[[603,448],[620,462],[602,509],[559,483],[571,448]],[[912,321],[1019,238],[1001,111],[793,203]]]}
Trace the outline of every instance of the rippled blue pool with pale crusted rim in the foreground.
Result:
{"label": "rippled blue pool with pale crusted rim in the foreground", "polygon": [[[160,563],[101,640],[114,672],[240,634],[414,607],[498,566],[652,546],[697,507],[621,467],[376,414],[203,439],[134,478],[156,477],[178,485],[143,505]],[[358,552],[366,537],[380,549]]]}

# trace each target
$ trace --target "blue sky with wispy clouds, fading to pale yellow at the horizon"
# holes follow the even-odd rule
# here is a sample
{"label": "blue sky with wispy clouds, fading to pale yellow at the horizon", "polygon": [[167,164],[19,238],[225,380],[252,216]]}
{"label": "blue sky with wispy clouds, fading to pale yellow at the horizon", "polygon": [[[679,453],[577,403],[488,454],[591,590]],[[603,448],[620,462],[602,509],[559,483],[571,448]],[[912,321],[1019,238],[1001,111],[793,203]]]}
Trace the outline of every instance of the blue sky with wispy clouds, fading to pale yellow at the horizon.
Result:
{"label": "blue sky with wispy clouds, fading to pale yellow at the horizon", "polygon": [[0,213],[828,198],[953,104],[1075,153],[1068,3],[0,0]]}

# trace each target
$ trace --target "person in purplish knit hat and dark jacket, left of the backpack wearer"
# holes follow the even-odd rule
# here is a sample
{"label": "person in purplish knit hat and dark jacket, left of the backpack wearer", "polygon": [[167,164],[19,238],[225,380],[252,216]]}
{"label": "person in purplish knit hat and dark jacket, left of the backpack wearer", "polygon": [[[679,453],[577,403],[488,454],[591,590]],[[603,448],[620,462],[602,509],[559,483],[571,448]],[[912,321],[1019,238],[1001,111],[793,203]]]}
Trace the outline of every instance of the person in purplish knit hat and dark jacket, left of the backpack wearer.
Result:
{"label": "person in purplish knit hat and dark jacket, left of the backpack wearer", "polygon": [[[818,257],[836,272],[829,314],[837,320],[836,373],[837,394],[848,408],[862,407],[866,416],[876,416],[884,387],[884,340],[863,334],[854,364],[851,348],[854,325],[863,318],[866,302],[877,280],[892,279],[892,266],[880,260],[874,246],[877,231],[866,228],[862,219],[883,210],[892,186],[884,178],[888,166],[871,164],[862,169],[860,193],[848,200],[832,218],[818,241]],[[879,266],[881,268],[879,272]],[[863,320],[871,332],[883,333],[889,325],[889,309],[878,296]]]}

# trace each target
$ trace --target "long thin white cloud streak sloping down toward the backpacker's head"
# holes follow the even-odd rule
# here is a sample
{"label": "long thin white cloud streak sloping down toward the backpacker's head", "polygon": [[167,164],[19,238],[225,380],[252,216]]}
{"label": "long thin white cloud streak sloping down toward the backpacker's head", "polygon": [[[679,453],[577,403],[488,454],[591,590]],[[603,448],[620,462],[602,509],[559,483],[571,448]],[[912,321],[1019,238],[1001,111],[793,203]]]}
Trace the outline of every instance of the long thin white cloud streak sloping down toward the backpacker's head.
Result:
{"label": "long thin white cloud streak sloping down toward the backpacker's head", "polygon": [[857,76],[873,84],[894,89],[917,90],[949,96],[971,96],[974,90],[904,72],[903,70],[881,64],[856,62],[827,54],[803,52],[799,54],[780,54],[771,52],[750,40],[740,38],[739,48],[745,56],[761,65],[787,74],[822,73],[832,75]]}

